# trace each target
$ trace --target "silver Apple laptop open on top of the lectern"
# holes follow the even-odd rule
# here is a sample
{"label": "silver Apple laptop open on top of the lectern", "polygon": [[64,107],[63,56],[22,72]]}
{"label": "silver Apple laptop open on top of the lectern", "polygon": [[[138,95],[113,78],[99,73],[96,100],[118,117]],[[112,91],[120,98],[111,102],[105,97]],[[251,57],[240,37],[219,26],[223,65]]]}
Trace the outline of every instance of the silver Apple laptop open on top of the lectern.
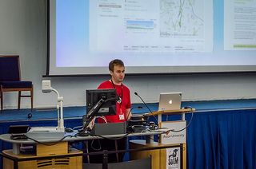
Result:
{"label": "silver Apple laptop open on top of the lectern", "polygon": [[159,97],[158,111],[179,110],[182,104],[182,92],[162,92]]}

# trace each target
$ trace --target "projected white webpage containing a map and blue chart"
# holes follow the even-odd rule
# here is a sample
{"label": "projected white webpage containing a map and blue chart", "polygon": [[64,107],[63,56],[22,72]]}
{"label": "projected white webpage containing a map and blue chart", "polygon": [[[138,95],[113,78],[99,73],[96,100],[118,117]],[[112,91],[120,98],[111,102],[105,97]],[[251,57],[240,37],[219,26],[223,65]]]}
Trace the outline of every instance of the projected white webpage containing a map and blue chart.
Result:
{"label": "projected white webpage containing a map and blue chart", "polygon": [[204,8],[203,1],[91,1],[90,52],[212,53],[213,9]]}

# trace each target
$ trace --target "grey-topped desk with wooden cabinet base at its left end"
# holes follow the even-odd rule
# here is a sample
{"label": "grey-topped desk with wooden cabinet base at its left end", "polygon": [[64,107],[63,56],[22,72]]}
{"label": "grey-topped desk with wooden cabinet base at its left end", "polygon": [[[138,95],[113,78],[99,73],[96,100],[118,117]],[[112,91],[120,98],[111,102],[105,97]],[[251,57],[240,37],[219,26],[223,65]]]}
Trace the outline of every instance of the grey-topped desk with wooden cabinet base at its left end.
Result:
{"label": "grey-topped desk with wooden cabinet base at its left end", "polygon": [[[122,137],[122,136],[150,136],[150,135],[159,135],[159,134],[163,134],[166,133],[167,130],[166,129],[159,129],[159,130],[154,130],[154,131],[149,131],[149,132],[141,132],[141,133],[130,133],[130,134],[122,134],[122,135],[111,135],[111,136],[104,136],[106,138],[118,138],[118,137]],[[75,151],[75,150],[68,150],[68,142],[69,141],[84,141],[84,140],[94,140],[94,139],[102,139],[99,136],[76,136],[77,132],[72,132],[72,133],[66,133],[65,136],[73,136],[73,137],[66,137],[64,140],[62,140],[62,142],[56,144],[55,146],[44,146],[42,144],[37,144],[37,150],[36,150],[36,154],[34,155],[23,155],[20,151],[20,144],[21,143],[26,143],[26,144],[34,144],[36,142],[34,142],[33,140],[11,140],[10,139],[10,134],[3,134],[0,136],[0,139],[6,142],[10,142],[13,143],[13,150],[5,150],[2,151],[2,154],[4,155],[8,155],[11,158],[17,158],[19,159],[26,159],[26,158],[36,158],[36,157],[50,157],[52,155],[72,155],[72,154],[81,154],[81,156],[75,156],[75,157],[70,157],[70,161],[69,163],[65,163],[63,164],[63,167],[60,168],[82,168],[82,151]],[[75,136],[75,137],[74,137]],[[39,138],[38,141],[42,142],[42,143],[54,143],[54,142],[58,142],[60,139],[58,138],[48,138],[48,139],[42,139]],[[71,159],[73,158],[73,159]],[[42,169],[48,169],[48,168],[53,168],[54,165],[54,161],[56,161],[56,159],[50,159],[50,162],[48,160],[47,163],[49,163],[49,166],[43,166],[40,167]],[[65,161],[65,160],[64,160]],[[46,162],[42,162],[42,163],[46,163]],[[6,159],[3,158],[3,166],[5,169],[9,169],[9,168],[37,168],[36,166],[38,165],[37,160],[30,160],[29,161],[20,161],[17,162],[17,164],[15,164],[11,159]],[[62,165],[62,164],[59,164]],[[75,165],[75,166],[74,166]],[[17,166],[17,167],[16,167]],[[58,168],[58,167],[55,167]]]}

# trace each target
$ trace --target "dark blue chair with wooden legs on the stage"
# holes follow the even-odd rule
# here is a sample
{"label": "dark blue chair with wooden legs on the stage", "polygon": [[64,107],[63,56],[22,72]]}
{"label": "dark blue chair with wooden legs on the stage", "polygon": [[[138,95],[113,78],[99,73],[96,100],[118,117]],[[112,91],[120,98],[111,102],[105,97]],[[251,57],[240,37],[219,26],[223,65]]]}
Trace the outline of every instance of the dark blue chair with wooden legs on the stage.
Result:
{"label": "dark blue chair with wooden legs on the stage", "polygon": [[[0,56],[0,90],[1,112],[3,112],[3,92],[18,92],[18,110],[21,108],[21,97],[30,97],[31,112],[33,112],[33,84],[32,81],[21,81],[18,56]],[[30,91],[30,96],[22,96],[22,91]]]}

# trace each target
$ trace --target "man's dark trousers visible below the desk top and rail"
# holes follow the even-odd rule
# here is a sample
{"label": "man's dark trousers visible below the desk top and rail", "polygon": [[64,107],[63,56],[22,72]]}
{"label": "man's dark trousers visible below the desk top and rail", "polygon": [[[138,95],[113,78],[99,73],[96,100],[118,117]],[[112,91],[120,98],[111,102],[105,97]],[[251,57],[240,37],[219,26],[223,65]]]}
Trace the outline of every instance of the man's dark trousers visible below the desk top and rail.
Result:
{"label": "man's dark trousers visible below the desk top and rail", "polygon": [[[127,147],[127,138],[122,138],[117,141],[117,150],[126,150]],[[108,140],[108,139],[95,139],[89,140],[88,142],[88,152],[98,152],[98,151],[116,151],[115,147],[115,140]],[[125,153],[118,153],[118,158],[116,153],[108,155],[108,163],[117,163],[122,162]],[[89,156],[89,163],[102,163],[103,155],[90,155]]]}

